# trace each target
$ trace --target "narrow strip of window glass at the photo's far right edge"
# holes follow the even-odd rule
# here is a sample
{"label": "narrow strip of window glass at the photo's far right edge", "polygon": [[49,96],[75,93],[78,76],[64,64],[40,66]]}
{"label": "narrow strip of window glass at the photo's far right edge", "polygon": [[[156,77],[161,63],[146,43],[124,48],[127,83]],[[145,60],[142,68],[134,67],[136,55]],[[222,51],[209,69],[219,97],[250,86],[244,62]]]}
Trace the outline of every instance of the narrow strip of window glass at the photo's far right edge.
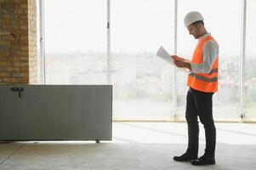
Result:
{"label": "narrow strip of window glass at the photo's far right edge", "polygon": [[247,42],[245,62],[245,106],[246,118],[256,119],[256,1],[247,1]]}

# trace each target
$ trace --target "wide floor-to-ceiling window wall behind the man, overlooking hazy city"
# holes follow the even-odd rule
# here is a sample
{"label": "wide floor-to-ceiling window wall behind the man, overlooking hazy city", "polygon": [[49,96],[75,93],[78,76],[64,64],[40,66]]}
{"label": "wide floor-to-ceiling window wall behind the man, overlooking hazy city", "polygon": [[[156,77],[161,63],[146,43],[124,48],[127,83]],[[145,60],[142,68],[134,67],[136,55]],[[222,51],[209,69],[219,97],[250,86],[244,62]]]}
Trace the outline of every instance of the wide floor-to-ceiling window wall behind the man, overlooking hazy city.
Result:
{"label": "wide floor-to-ceiling window wall behind the man, overlooking hazy city", "polygon": [[[178,8],[174,8],[175,2]],[[114,120],[172,120],[174,115],[184,119],[187,73],[174,73],[171,65],[156,57],[156,51],[163,46],[174,54],[177,45],[177,54],[191,59],[198,40],[189,35],[183,19],[188,12],[197,10],[219,43],[219,92],[213,95],[214,118],[241,120],[243,2],[44,0],[45,82],[107,84],[111,80]],[[255,1],[247,0],[244,103],[248,119],[256,118],[255,8]]]}

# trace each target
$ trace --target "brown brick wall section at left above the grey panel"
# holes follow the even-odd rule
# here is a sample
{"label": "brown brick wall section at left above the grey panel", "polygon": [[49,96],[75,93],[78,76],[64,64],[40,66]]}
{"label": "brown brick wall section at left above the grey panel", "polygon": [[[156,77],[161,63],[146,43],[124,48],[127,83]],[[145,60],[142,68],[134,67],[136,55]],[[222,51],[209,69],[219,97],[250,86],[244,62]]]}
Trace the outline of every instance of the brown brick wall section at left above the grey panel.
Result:
{"label": "brown brick wall section at left above the grey panel", "polygon": [[0,0],[0,83],[37,83],[36,23],[36,0]]}

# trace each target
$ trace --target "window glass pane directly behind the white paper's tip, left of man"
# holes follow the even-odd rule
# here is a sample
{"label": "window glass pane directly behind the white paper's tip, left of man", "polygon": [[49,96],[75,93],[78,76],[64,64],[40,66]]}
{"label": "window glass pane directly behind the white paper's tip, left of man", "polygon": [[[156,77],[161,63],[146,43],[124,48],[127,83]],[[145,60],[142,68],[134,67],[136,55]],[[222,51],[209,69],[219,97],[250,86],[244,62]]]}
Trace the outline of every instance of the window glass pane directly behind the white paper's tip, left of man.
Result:
{"label": "window glass pane directly behind the white paper's tip, left of man", "polygon": [[114,119],[170,119],[172,67],[157,59],[174,47],[174,1],[111,1]]}

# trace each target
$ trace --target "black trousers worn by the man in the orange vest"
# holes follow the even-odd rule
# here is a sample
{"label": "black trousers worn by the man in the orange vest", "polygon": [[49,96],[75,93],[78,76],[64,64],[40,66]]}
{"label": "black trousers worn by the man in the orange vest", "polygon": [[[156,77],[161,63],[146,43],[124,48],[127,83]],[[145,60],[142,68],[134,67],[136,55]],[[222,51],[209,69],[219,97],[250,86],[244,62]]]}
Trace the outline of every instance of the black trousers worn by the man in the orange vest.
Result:
{"label": "black trousers worn by the man in the orange vest", "polygon": [[188,148],[186,152],[198,156],[199,116],[205,130],[206,148],[205,155],[215,156],[216,129],[213,122],[213,93],[204,93],[189,88],[186,96],[185,118],[188,124]]}

